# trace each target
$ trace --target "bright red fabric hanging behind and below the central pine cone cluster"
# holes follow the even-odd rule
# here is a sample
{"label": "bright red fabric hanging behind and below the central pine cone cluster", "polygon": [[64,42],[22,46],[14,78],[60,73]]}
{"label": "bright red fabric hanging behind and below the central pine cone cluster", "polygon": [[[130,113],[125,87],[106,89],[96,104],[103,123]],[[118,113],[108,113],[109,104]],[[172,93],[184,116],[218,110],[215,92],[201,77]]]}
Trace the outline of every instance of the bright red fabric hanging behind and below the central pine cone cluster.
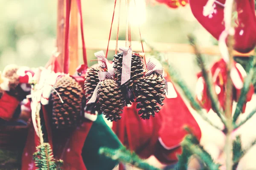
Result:
{"label": "bright red fabric hanging behind and below the central pine cone cluster", "polygon": [[[169,77],[166,79],[171,81]],[[175,91],[177,92],[176,89]],[[113,122],[112,129],[120,141],[141,158],[155,155],[162,163],[169,164],[177,161],[176,154],[180,153],[181,149],[177,147],[168,150],[158,139],[161,138],[167,147],[179,146],[187,134],[183,129],[184,125],[192,128],[198,140],[201,138],[201,130],[178,92],[177,98],[166,98],[163,102],[160,112],[148,120],[140,118],[134,104],[131,108],[125,108],[122,119]]]}

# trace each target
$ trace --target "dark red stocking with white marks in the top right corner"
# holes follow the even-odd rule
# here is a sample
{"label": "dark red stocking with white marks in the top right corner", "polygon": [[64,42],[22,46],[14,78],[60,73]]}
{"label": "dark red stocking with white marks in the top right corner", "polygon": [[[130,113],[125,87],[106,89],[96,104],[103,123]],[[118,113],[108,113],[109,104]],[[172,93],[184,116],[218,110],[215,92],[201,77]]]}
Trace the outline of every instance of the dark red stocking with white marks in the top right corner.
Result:
{"label": "dark red stocking with white marks in the top right corner", "polygon": [[[208,0],[190,0],[189,4],[195,18],[204,26],[210,34],[216,39],[219,38],[225,27],[223,24],[224,7],[214,3],[215,9],[211,17],[203,15],[203,9]],[[224,4],[225,0],[218,0]],[[247,53],[256,45],[256,17],[254,0],[236,0],[238,20],[235,28],[235,46],[234,48],[241,52]]]}

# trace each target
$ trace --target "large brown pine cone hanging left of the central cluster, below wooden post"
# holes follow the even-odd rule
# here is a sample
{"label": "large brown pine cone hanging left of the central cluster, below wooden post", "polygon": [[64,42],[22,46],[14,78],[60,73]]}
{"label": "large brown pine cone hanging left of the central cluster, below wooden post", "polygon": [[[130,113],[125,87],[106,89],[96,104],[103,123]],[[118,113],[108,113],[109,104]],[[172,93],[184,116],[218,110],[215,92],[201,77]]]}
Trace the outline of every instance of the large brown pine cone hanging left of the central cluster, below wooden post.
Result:
{"label": "large brown pine cone hanging left of the central cluster, below wooden post", "polygon": [[79,123],[83,91],[76,79],[68,75],[60,77],[54,85],[61,96],[52,91],[52,120],[57,129],[75,127]]}

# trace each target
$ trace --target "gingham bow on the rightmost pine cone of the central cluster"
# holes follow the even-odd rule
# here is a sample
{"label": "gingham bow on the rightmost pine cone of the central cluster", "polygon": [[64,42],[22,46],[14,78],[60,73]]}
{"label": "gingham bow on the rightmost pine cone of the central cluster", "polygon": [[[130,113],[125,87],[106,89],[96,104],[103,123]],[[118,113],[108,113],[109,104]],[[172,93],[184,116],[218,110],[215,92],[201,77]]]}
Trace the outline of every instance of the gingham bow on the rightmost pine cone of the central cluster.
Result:
{"label": "gingham bow on the rightmost pine cone of the central cluster", "polygon": [[162,75],[163,81],[165,82],[166,94],[168,94],[168,83],[163,75],[164,68],[160,65],[157,65],[157,62],[158,62],[157,59],[154,59],[154,58],[148,59],[148,62],[147,62],[147,70],[148,71],[146,72],[145,76],[148,76],[153,72],[156,72],[156,73]]}

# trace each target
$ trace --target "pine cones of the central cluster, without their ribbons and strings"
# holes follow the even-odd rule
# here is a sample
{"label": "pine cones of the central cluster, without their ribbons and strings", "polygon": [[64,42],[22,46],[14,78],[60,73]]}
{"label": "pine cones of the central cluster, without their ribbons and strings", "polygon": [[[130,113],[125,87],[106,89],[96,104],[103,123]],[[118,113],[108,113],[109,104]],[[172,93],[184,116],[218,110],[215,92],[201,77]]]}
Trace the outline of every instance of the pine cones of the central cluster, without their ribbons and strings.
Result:
{"label": "pine cones of the central cluster, without their ribbons and strings", "polygon": [[[131,59],[131,79],[124,85],[120,85],[122,77],[123,52],[116,54],[113,59],[115,75],[113,79],[105,79],[100,82],[97,101],[89,105],[89,110],[105,114],[108,120],[117,121],[121,119],[120,114],[123,108],[137,102],[137,108],[142,119],[149,119],[150,116],[159,112],[165,99],[165,83],[163,76],[156,72],[145,76],[145,65],[143,59],[133,54]],[[84,82],[84,90],[87,101],[91,98],[93,91],[99,83],[98,72],[103,71],[99,65],[87,70]]]}

